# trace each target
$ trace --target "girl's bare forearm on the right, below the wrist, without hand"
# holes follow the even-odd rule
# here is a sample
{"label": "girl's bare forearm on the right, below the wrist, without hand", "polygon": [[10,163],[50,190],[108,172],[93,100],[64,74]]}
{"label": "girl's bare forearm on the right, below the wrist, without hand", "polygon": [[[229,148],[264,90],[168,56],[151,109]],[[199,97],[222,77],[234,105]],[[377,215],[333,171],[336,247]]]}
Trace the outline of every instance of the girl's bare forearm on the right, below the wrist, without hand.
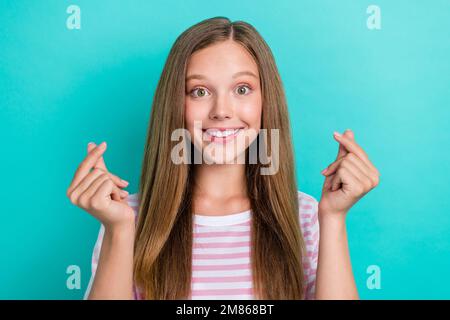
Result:
{"label": "girl's bare forearm on the right, below the wrist, without hand", "polygon": [[353,277],[345,219],[321,214],[316,299],[359,299]]}

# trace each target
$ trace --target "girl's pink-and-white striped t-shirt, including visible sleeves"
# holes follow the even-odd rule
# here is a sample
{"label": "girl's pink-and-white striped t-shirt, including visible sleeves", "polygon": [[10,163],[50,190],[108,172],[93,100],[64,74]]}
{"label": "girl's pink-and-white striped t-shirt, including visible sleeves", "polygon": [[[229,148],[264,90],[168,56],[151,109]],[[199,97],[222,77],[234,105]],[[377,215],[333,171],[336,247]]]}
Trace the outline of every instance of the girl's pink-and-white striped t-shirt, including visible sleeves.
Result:
{"label": "girl's pink-and-white striped t-shirt, including visible sleeves", "polygon": [[[300,229],[306,245],[303,255],[305,298],[314,299],[319,223],[317,200],[298,191]],[[137,215],[138,194],[128,196],[128,204]],[[189,299],[254,299],[250,264],[251,210],[222,215],[194,214],[192,281]],[[92,254],[92,275],[84,298],[94,280],[103,240],[101,225]],[[141,299],[135,288],[135,298]]]}

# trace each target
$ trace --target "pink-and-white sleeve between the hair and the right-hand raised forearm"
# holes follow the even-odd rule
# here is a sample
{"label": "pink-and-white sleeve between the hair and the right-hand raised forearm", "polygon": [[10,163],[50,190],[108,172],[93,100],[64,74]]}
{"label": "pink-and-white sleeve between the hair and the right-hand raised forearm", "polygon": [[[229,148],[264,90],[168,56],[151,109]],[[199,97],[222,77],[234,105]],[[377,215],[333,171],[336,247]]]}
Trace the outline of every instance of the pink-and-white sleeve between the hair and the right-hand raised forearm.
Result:
{"label": "pink-and-white sleeve between the hair and the right-hand raised forearm", "polygon": [[303,255],[305,299],[313,300],[316,290],[317,260],[319,257],[318,201],[304,192],[298,192],[300,227],[306,246]]}

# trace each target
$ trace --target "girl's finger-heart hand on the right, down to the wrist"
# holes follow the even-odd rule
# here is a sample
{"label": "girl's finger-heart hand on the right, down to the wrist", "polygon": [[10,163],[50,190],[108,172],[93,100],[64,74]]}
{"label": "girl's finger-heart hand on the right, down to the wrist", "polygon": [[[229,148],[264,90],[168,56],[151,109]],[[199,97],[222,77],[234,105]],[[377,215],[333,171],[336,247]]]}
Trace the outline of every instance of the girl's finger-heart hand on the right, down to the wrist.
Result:
{"label": "girl's finger-heart hand on the right, down to the wrist", "polygon": [[345,217],[350,208],[379,183],[380,173],[368,155],[355,142],[351,130],[334,134],[339,142],[336,160],[322,174],[326,177],[319,202],[319,212]]}

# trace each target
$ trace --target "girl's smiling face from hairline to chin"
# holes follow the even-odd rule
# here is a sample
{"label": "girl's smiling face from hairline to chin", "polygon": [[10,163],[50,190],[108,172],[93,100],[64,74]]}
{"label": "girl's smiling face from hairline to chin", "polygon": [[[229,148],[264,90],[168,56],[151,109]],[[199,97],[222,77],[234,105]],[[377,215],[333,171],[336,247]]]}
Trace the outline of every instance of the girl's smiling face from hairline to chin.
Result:
{"label": "girl's smiling face from hairline to chin", "polygon": [[186,129],[202,163],[237,163],[257,137],[262,98],[253,57],[227,40],[196,51],[186,72]]}

